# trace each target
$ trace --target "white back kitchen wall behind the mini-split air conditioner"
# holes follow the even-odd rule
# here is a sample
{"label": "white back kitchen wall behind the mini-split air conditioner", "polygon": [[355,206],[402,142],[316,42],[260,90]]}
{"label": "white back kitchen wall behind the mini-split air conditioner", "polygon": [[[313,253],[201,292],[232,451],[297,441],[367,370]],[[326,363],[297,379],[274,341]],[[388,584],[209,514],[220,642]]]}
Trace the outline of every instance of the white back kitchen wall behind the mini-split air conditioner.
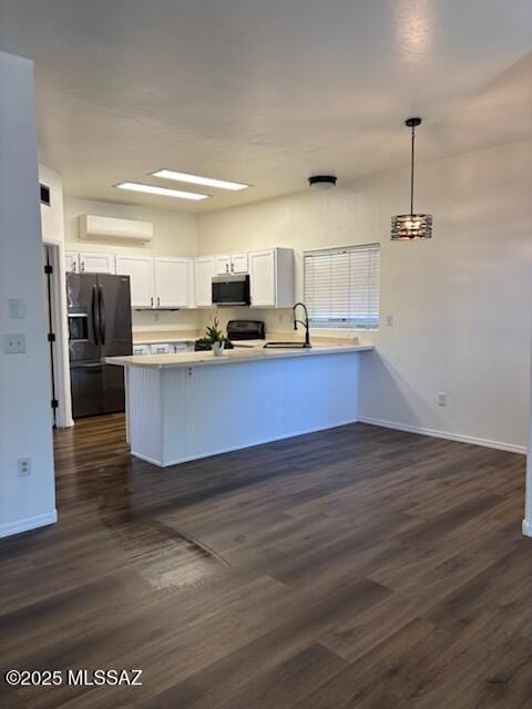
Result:
{"label": "white back kitchen wall behind the mini-split air conditioner", "polygon": [[[79,216],[82,214],[152,222],[154,238],[145,245],[124,245],[108,239],[80,239]],[[92,202],[68,196],[64,197],[64,239],[66,250],[72,251],[142,253],[146,256],[195,256],[197,254],[196,219],[193,214],[111,202]],[[133,311],[135,333],[152,330],[196,330],[197,327],[197,310]]]}

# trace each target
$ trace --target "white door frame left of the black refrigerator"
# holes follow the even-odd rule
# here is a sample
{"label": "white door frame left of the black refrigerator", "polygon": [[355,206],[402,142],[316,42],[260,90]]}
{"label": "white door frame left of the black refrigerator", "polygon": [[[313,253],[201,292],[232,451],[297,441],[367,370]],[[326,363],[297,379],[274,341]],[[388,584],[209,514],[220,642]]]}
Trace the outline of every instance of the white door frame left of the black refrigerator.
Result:
{"label": "white door frame left of the black refrigerator", "polygon": [[[65,429],[74,425],[72,419],[72,394],[70,391],[69,327],[66,317],[66,274],[64,268],[64,244],[60,239],[47,237],[43,246],[50,248],[52,274],[50,276],[52,325],[55,341],[52,342],[53,369],[55,376],[55,425]],[[44,273],[43,273],[44,276]]]}

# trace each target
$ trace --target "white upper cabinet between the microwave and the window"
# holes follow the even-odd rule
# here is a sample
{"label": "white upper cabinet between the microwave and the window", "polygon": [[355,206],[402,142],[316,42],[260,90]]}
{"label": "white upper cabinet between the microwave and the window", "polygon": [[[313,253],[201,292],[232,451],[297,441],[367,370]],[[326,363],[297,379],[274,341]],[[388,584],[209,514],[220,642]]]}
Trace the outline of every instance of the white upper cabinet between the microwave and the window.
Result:
{"label": "white upper cabinet between the microwave and the window", "polygon": [[270,248],[249,255],[252,306],[291,308],[294,305],[294,251]]}

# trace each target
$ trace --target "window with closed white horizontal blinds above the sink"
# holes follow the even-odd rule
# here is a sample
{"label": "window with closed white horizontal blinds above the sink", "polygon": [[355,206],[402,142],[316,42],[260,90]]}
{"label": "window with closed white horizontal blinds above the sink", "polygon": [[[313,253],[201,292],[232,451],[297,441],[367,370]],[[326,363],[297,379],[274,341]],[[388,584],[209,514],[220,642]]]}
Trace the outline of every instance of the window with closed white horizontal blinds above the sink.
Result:
{"label": "window with closed white horizontal blinds above the sink", "polygon": [[313,327],[379,326],[378,244],[306,251],[304,296]]}

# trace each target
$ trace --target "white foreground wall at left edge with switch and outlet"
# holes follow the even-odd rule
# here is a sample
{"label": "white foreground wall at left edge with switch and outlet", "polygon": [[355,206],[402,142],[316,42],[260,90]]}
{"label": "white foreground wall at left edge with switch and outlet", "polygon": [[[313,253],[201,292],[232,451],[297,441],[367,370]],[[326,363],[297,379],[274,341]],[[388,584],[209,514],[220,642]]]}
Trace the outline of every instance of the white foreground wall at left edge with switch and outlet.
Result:
{"label": "white foreground wall at left edge with switch and outlet", "polygon": [[[0,353],[0,536],[55,521],[50,372],[32,62],[0,53],[0,331],[25,336],[27,353]],[[10,318],[22,298],[24,319]],[[17,462],[31,458],[31,475]]]}

